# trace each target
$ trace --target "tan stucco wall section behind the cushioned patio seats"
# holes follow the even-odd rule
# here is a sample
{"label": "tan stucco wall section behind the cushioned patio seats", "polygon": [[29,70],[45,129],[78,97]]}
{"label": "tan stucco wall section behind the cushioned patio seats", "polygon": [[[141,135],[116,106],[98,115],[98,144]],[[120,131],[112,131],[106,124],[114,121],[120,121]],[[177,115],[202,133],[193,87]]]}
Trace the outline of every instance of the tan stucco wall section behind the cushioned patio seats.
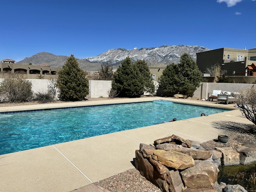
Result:
{"label": "tan stucco wall section behind the cushioned patio seats", "polygon": [[254,84],[246,83],[201,83],[200,86],[194,92],[194,98],[207,98],[208,93],[212,93],[212,90],[221,90],[229,92],[240,92],[242,89],[250,88]]}

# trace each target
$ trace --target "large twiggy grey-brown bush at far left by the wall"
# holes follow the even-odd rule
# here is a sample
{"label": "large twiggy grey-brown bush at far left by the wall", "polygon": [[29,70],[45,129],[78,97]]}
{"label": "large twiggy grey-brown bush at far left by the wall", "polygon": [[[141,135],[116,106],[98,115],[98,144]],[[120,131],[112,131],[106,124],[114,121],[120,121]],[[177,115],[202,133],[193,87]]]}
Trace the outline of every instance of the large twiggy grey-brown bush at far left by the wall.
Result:
{"label": "large twiggy grey-brown bush at far left by the wall", "polygon": [[12,74],[0,83],[0,95],[9,102],[26,102],[32,99],[32,82]]}

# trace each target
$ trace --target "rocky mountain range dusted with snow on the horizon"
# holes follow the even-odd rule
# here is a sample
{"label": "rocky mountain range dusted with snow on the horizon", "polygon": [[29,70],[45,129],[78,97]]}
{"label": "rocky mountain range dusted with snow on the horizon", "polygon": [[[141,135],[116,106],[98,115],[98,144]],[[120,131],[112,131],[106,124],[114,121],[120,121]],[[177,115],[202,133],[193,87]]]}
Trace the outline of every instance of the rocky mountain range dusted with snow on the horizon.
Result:
{"label": "rocky mountain range dusted with snow on the horizon", "polygon": [[[132,50],[118,48],[110,49],[98,56],[77,59],[80,68],[86,71],[97,71],[108,62],[113,69],[117,69],[122,60],[130,57],[133,62],[137,60],[146,60],[148,66],[166,66],[171,63],[178,63],[180,56],[188,53],[196,61],[196,53],[208,51],[210,49],[202,46],[187,46],[187,45],[164,45],[154,48],[134,48]],[[68,56],[57,56],[48,52],[40,52],[17,64],[40,65],[48,64],[56,68],[62,68]]]}

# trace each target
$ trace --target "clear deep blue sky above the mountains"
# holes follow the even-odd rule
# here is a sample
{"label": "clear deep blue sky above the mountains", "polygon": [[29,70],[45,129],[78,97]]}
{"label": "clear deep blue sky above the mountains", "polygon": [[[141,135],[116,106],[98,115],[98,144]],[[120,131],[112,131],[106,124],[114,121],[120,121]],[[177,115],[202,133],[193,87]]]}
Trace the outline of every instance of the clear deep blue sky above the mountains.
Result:
{"label": "clear deep blue sky above the mountains", "polygon": [[256,0],[0,0],[0,60],[39,52],[87,58],[109,49],[256,48]]}

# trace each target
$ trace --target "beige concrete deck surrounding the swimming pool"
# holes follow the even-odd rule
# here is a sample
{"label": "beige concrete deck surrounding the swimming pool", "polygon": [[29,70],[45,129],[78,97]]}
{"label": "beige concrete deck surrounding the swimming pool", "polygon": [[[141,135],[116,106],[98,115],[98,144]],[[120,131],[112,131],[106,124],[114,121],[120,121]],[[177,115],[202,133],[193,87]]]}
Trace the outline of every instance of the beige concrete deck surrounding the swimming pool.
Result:
{"label": "beige concrete deck surrounding the swimming pool", "polygon": [[90,184],[134,168],[132,161],[140,143],[150,144],[172,134],[205,142],[228,132],[221,129],[222,122],[252,124],[234,104],[159,97],[0,107],[0,112],[156,99],[235,110],[0,155],[0,191],[70,192],[84,186],[87,190],[80,191],[92,191]]}

